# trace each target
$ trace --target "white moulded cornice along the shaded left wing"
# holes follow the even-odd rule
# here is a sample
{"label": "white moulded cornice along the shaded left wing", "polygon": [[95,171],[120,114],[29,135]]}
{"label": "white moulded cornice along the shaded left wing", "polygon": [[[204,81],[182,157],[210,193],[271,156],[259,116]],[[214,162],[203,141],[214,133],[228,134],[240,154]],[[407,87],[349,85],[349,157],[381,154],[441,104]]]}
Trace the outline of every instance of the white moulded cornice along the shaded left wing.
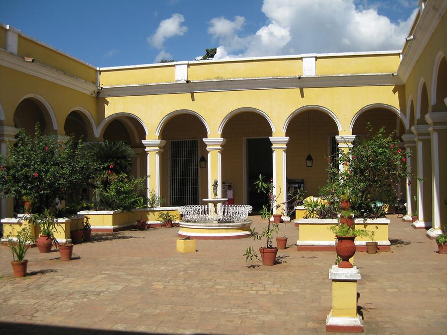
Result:
{"label": "white moulded cornice along the shaded left wing", "polygon": [[12,55],[2,49],[0,49],[0,65],[52,81],[85,94],[96,95],[96,86],[92,83],[39,63],[25,62],[22,57]]}

